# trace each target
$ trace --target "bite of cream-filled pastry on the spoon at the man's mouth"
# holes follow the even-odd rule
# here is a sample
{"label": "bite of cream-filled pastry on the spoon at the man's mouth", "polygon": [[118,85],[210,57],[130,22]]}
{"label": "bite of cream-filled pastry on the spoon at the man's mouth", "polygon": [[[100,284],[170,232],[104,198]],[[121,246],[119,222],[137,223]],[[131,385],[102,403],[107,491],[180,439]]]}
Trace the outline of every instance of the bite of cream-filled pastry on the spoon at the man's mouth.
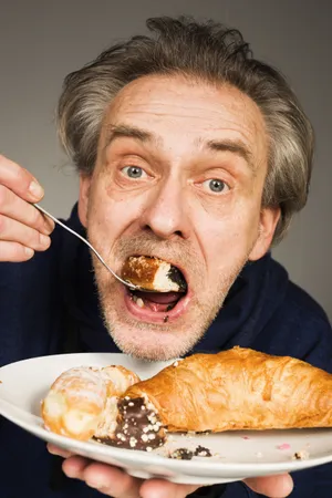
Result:
{"label": "bite of cream-filled pastry on the spoon at the man's mouth", "polygon": [[131,256],[121,277],[142,289],[155,292],[186,292],[181,272],[167,261],[147,256]]}

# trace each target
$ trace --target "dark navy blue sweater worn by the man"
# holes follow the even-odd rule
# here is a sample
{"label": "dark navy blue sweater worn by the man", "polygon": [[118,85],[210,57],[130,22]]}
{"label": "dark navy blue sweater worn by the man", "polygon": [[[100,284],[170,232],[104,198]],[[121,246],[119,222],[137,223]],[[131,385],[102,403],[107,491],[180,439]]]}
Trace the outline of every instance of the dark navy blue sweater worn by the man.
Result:
{"label": "dark navy blue sweater worn by the man", "polygon": [[[68,224],[84,235],[76,206]],[[217,319],[191,352],[234,345],[287,354],[332,372],[332,331],[325,313],[267,255],[249,263]],[[52,246],[24,263],[0,263],[0,366],[63,352],[118,352],[98,311],[89,250],[61,228]],[[22,380],[24,382],[24,380]],[[97,498],[68,479],[42,440],[0,417],[0,497]],[[292,498],[330,498],[332,465],[293,474]],[[258,497],[242,483],[203,488],[200,495]]]}

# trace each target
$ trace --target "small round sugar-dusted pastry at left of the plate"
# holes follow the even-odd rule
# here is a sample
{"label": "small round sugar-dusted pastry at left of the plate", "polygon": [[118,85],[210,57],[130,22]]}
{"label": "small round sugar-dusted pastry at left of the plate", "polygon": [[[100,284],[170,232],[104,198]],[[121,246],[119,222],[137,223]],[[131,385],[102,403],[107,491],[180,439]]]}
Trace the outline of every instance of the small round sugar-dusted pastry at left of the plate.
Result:
{"label": "small round sugar-dusted pastry at left of the plate", "polygon": [[41,403],[46,429],[75,439],[110,437],[118,397],[138,376],[124,366],[80,366],[63,372]]}

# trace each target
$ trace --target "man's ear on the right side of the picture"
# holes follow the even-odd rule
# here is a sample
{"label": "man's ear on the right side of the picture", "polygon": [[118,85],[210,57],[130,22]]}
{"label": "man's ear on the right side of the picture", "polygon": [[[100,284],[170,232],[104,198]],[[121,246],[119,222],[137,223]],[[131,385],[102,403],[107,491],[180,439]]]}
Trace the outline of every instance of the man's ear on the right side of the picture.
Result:
{"label": "man's ear on the right side of the picture", "polygon": [[271,247],[277,224],[280,218],[280,208],[263,208],[260,211],[259,235],[249,255],[249,261],[262,258]]}

